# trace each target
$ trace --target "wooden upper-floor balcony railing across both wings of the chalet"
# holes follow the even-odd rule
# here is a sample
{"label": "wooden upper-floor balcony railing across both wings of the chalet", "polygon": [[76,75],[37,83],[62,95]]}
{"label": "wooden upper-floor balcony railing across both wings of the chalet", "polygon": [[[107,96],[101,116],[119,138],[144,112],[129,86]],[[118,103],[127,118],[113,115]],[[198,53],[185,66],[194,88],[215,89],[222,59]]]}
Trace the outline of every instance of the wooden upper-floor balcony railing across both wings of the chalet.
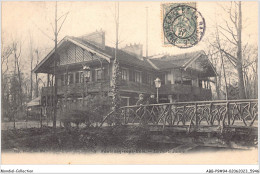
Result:
{"label": "wooden upper-floor balcony railing across both wings of the chalet", "polygon": [[[43,87],[42,95],[52,95],[54,88],[52,87]],[[99,81],[99,82],[87,82],[83,83],[74,83],[69,85],[58,86],[58,95],[70,95],[70,94],[82,94],[83,90],[85,93],[93,93],[99,91],[111,91],[110,81]],[[137,93],[155,93],[156,88],[154,85],[138,83],[132,81],[121,80],[120,90],[128,92],[137,92]],[[162,85],[159,88],[159,94],[185,94],[185,95],[195,95],[199,96],[197,100],[208,100],[211,99],[211,90],[204,89],[200,87],[190,86],[190,85],[180,85],[180,84],[167,84]]]}

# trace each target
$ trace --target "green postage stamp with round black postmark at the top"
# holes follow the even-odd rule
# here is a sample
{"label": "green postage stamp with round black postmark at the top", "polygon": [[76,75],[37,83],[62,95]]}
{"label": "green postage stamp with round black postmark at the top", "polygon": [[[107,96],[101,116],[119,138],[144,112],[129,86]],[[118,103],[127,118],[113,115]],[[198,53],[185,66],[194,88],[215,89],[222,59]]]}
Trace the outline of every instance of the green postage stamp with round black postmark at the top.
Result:
{"label": "green postage stamp with round black postmark at the top", "polygon": [[205,19],[195,3],[162,4],[163,46],[190,48],[203,37]]}

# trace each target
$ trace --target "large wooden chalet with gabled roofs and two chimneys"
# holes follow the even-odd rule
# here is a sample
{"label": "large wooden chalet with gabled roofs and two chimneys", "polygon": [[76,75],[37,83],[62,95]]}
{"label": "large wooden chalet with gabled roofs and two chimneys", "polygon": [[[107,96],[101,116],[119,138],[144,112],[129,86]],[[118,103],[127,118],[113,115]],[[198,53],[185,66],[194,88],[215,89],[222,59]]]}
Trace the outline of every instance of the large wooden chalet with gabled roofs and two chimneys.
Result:
{"label": "large wooden chalet with gabled roofs and two chimneys", "polygon": [[[210,100],[209,78],[216,71],[203,51],[175,55],[142,56],[142,45],[127,45],[117,52],[121,71],[120,94],[122,105],[135,105],[138,95],[156,93],[154,80],[159,77],[160,102]],[[58,100],[80,103],[83,96],[102,92],[111,95],[112,68],[115,49],[105,45],[105,33],[95,32],[82,37],[65,37],[57,48]],[[83,67],[90,68],[88,82]],[[42,103],[51,103],[53,94],[54,50],[34,69],[48,76],[48,87],[41,92]]]}

